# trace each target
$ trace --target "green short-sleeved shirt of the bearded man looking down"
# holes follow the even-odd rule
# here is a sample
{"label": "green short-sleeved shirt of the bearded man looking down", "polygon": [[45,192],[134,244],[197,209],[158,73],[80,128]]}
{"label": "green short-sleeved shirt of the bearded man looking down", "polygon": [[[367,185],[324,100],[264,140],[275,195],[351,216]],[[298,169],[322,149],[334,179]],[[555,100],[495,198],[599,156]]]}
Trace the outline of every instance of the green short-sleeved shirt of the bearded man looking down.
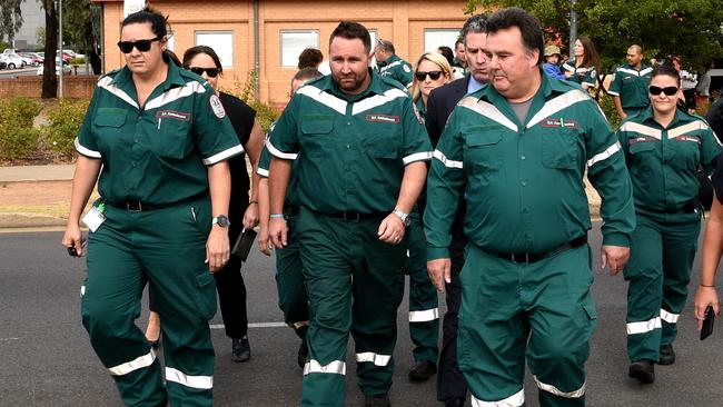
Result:
{"label": "green short-sleeved shirt of the bearded man looking down", "polygon": [[406,90],[369,72],[369,88],[354,98],[331,76],[307,82],[270,131],[271,155],[298,155],[299,201],[311,210],[392,211],[405,166],[432,157]]}

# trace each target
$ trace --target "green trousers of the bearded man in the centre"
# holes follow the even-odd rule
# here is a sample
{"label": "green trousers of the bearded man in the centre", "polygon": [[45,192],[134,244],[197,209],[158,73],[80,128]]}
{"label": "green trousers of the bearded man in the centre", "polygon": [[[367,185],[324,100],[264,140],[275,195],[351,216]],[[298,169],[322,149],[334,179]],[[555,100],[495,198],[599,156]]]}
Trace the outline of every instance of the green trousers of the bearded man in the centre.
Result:
{"label": "green trousers of the bearded man in the centre", "polygon": [[397,246],[379,241],[382,220],[345,220],[301,208],[297,232],[310,308],[301,406],[345,405],[349,330],[364,395],[392,387],[408,239]]}

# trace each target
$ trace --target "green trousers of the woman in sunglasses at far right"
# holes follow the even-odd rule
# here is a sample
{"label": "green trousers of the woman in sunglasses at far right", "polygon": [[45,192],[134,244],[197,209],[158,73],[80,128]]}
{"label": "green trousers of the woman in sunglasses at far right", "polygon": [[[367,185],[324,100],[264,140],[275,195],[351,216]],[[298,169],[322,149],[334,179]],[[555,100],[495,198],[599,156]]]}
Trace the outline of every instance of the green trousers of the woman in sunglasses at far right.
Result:
{"label": "green trousers of the woman in sunglasses at far right", "polygon": [[623,271],[630,282],[626,328],[631,361],[657,361],[661,345],[675,340],[677,318],[685,307],[701,221],[695,212],[670,218],[674,221],[636,216],[631,258]]}

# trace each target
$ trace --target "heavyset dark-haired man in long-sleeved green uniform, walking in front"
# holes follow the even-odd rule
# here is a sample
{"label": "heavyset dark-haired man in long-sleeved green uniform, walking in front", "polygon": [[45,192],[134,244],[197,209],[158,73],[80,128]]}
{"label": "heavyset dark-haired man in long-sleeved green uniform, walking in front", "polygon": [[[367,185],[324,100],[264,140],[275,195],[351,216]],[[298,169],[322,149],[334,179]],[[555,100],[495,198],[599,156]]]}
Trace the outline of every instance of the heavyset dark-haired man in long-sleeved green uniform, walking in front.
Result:
{"label": "heavyset dark-haired man in long-sleeved green uniform, walking in front", "polygon": [[620,143],[595,101],[542,71],[543,31],[522,9],[487,19],[491,85],[455,108],[427,182],[427,267],[449,281],[449,227],[467,200],[459,368],[474,406],[523,406],[525,359],[541,406],[583,406],[591,228],[583,177],[603,198],[602,266],[622,270],[634,212]]}

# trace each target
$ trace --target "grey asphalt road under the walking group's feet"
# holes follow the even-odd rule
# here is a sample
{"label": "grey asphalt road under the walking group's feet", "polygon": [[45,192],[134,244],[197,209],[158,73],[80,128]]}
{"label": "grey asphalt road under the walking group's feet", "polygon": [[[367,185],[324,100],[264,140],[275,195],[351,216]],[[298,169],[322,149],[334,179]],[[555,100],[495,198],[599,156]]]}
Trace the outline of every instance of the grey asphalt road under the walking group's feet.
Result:
{"label": "grey asphalt road under the walking group's feet", "polygon": [[[594,251],[600,247],[598,225],[591,232]],[[79,288],[83,262],[68,257],[59,246],[61,234],[0,235],[0,406],[120,406],[112,379],[93,354],[79,318]],[[598,266],[595,265],[597,268]],[[251,324],[280,322],[273,264],[251,255],[244,276],[248,287]],[[697,285],[696,262],[691,287]],[[680,319],[675,343],[677,361],[656,369],[656,383],[640,386],[627,378],[625,355],[625,290],[621,277],[595,271],[594,296],[597,330],[587,363],[587,405],[703,407],[723,405],[722,332],[697,340],[692,306]],[[145,302],[145,298],[143,298]],[[444,309],[444,307],[443,307]],[[138,319],[145,326],[146,312]],[[412,347],[406,326],[406,306],[399,309],[399,340],[392,388],[394,406],[439,406],[434,380],[413,385]],[[217,316],[212,325],[220,325]],[[721,325],[719,330],[723,329]],[[252,358],[247,364],[229,359],[230,340],[222,329],[212,329],[217,360],[217,406],[295,406],[300,395],[300,369],[295,356],[298,339],[287,327],[249,329]],[[349,347],[351,348],[351,346]],[[353,356],[347,357],[347,405],[363,405],[356,387]],[[528,406],[537,406],[529,377]]]}

